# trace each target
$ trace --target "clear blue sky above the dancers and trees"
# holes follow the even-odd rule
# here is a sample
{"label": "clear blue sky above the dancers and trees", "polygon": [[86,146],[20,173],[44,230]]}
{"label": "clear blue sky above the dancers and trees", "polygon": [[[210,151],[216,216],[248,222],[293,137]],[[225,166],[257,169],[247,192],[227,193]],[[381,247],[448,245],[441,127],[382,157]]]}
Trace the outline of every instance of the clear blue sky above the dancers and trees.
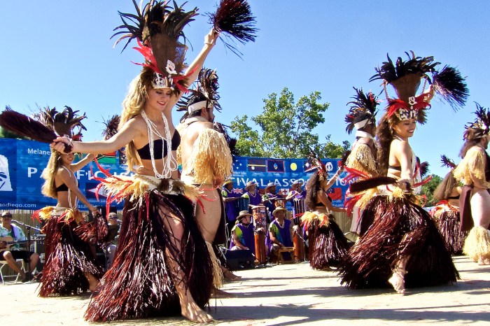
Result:
{"label": "clear blue sky above the dancers and trees", "polygon": [[[325,124],[313,132],[331,134],[340,143],[345,133],[346,103],[352,87],[381,91],[368,83],[374,67],[386,59],[433,55],[437,62],[457,66],[467,76],[470,97],[454,113],[434,99],[426,125],[410,139],[415,153],[444,176],[440,155],[456,159],[466,122],[473,120],[474,101],[490,106],[489,1],[326,1],[250,0],[257,17],[255,43],[240,45],[243,60],[222,44],[206,66],[217,69],[223,112],[217,119],[229,124],[237,115],[257,115],[267,94],[288,87],[299,99],[315,90],[330,103]],[[409,3],[409,5],[407,5]],[[214,10],[216,1],[188,1],[200,13]],[[39,106],[71,106],[87,113],[84,140],[100,138],[102,121],[120,113],[130,80],[139,73],[141,55],[113,49],[117,11],[134,13],[130,0],[2,1],[0,25],[0,107],[10,105],[30,114]],[[197,17],[185,30],[193,49],[202,47],[209,30],[207,17]],[[180,114],[174,113],[174,122]],[[284,132],[288,132],[285,130]]]}

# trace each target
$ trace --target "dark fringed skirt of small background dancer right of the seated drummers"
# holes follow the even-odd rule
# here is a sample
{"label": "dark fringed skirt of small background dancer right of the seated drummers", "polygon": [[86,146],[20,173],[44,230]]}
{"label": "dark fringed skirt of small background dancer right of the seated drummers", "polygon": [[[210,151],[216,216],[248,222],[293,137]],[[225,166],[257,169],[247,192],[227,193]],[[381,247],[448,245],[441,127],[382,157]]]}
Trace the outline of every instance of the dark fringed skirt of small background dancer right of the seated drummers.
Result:
{"label": "dark fringed skirt of small background dancer right of the seated drummers", "polygon": [[[319,213],[318,217],[308,223],[309,265],[312,269],[337,267],[347,254],[349,243],[331,214]],[[328,218],[328,222],[325,218]]]}

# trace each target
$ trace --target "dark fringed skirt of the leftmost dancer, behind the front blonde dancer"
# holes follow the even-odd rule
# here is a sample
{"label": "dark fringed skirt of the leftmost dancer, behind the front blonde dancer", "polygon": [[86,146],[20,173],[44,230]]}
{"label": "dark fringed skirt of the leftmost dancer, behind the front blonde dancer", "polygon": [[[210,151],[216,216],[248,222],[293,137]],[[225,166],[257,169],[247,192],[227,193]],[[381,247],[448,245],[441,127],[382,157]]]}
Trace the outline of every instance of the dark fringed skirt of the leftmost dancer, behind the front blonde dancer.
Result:
{"label": "dark fringed skirt of the leftmost dancer, behind the front blonde dancer", "polygon": [[52,216],[43,227],[46,234],[45,257],[41,277],[40,297],[77,295],[89,290],[85,273],[102,278],[104,269],[94,254],[94,248],[73,232],[78,227],[74,220]]}

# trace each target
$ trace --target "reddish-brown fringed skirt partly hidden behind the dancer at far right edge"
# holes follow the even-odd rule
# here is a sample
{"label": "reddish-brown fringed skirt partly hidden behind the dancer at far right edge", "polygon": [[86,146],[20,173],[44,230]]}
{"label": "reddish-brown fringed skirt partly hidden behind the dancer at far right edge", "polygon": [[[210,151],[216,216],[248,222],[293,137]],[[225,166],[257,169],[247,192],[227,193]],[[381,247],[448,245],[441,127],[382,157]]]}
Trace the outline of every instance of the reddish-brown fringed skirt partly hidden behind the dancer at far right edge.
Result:
{"label": "reddish-brown fringed skirt partly hidden behind the dancer at far right edge", "polygon": [[461,255],[468,231],[460,231],[459,212],[447,210],[439,217],[439,231],[451,255]]}

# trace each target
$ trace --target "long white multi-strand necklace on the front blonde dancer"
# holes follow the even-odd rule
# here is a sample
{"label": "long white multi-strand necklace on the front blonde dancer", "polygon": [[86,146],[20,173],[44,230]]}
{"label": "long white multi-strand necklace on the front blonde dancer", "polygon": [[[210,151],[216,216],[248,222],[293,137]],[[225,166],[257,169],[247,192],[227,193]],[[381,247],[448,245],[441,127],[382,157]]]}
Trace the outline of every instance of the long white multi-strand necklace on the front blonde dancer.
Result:
{"label": "long white multi-strand necklace on the front blonde dancer", "polygon": [[[150,146],[150,157],[151,157],[151,166],[153,166],[153,173],[155,173],[155,177],[159,179],[166,179],[172,176],[172,171],[177,169],[177,161],[172,156],[172,139],[170,136],[169,123],[167,122],[167,118],[162,113],[162,120],[165,125],[165,138],[158,132],[157,126],[148,118],[144,110],[141,110],[141,118],[146,122],[146,128],[148,130],[148,145]],[[153,143],[154,136],[157,135],[162,141],[162,154],[165,153],[165,143],[167,143],[167,157],[162,157],[163,160],[163,169],[162,173],[160,173],[155,164],[155,151],[153,150],[155,144]]]}

